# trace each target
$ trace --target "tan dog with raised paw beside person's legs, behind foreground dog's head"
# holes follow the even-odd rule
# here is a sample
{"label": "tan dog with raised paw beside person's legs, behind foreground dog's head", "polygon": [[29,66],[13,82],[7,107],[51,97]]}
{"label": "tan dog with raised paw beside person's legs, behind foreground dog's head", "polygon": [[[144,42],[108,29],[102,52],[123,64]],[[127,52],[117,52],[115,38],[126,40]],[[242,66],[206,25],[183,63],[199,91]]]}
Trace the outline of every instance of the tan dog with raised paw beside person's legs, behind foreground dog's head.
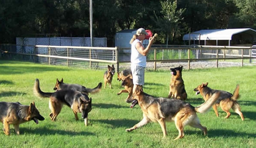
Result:
{"label": "tan dog with raised paw beside person's legs, behind foreground dog's head", "polygon": [[128,75],[126,77],[123,77],[121,85],[124,87],[124,90],[121,90],[118,93],[118,95],[120,95],[121,93],[128,93],[127,99],[130,98],[132,96],[132,88],[133,88],[133,82],[132,82],[131,76]]}

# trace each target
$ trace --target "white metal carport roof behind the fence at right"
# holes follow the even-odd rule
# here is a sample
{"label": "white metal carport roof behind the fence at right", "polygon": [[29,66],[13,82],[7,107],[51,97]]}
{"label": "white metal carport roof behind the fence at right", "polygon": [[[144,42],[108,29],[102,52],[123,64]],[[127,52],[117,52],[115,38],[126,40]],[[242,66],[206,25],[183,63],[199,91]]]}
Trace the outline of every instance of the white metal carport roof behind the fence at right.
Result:
{"label": "white metal carport roof behind the fence at right", "polygon": [[240,29],[208,29],[208,30],[199,30],[186,34],[183,36],[183,41],[189,40],[232,40],[232,35],[238,33],[247,33],[253,35],[253,38],[256,39],[256,30],[251,28],[240,28]]}

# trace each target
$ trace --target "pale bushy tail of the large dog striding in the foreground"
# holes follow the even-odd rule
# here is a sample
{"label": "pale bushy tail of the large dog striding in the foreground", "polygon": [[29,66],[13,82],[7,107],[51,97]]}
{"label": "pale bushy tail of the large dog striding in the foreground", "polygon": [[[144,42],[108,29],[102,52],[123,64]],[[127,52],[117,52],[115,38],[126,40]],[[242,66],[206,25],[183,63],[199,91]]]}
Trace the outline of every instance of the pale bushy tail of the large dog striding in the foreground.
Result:
{"label": "pale bushy tail of the large dog striding in the foreground", "polygon": [[214,93],[206,102],[195,107],[197,113],[207,113],[213,104],[217,101],[221,93]]}

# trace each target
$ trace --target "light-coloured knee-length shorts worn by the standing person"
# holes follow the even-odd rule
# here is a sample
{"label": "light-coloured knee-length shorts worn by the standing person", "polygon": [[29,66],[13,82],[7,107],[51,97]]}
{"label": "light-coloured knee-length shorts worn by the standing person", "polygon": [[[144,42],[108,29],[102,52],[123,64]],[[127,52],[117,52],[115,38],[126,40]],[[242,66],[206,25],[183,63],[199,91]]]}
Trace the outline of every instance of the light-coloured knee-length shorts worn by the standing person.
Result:
{"label": "light-coloured knee-length shorts worn by the standing person", "polygon": [[144,85],[145,67],[131,65],[132,81],[135,85]]}

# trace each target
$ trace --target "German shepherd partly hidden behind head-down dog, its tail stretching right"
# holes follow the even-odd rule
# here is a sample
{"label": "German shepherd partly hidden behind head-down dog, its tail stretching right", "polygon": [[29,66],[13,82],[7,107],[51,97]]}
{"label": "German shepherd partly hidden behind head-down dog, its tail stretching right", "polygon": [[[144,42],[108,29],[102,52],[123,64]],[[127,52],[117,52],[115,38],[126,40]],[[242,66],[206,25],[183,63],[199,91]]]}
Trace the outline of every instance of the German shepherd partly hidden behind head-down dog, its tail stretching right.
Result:
{"label": "German shepherd partly hidden behind head-down dog, its tail stretching right", "polygon": [[79,92],[81,92],[82,94],[85,95],[89,95],[89,93],[98,93],[101,90],[102,87],[102,83],[100,82],[97,87],[95,88],[86,88],[82,85],[79,84],[67,84],[67,83],[63,83],[63,78],[59,81],[59,79],[57,78],[56,80],[56,84],[55,87],[53,88],[53,90],[77,90]]}

